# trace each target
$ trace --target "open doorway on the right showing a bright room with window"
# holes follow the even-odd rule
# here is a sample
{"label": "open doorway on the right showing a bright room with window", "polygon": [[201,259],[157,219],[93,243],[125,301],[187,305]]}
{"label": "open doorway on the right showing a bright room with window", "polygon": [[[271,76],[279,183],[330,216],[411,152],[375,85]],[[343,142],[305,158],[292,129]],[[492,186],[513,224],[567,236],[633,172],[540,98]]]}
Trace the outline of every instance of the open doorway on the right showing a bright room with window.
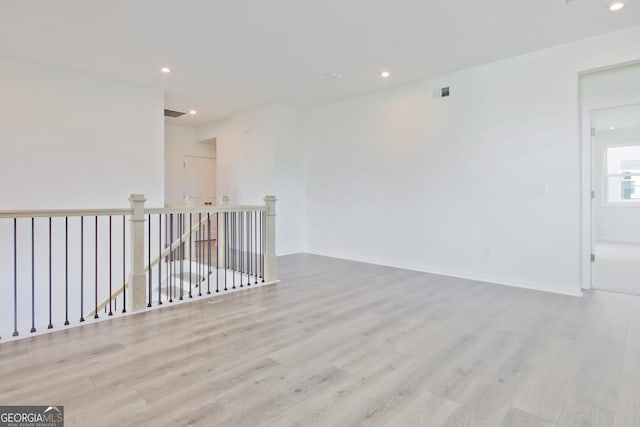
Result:
{"label": "open doorway on the right showing a bright room with window", "polygon": [[640,295],[640,104],[592,110],[592,287]]}

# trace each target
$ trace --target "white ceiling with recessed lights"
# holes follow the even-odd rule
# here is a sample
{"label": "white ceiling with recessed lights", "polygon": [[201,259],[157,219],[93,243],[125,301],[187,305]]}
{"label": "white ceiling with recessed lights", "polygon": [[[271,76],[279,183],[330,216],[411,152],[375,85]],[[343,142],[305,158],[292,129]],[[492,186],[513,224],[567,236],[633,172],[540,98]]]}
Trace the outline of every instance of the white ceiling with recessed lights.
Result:
{"label": "white ceiling with recessed lights", "polygon": [[0,55],[163,88],[166,108],[198,110],[176,122],[197,125],[640,24],[640,0],[626,3],[614,14],[607,0],[0,0]]}

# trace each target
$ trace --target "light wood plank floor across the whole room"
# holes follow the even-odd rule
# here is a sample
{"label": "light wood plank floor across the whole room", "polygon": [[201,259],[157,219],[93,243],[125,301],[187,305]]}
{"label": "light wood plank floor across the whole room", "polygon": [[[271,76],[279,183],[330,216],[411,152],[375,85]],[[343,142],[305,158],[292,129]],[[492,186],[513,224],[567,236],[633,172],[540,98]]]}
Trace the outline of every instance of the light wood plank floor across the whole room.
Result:
{"label": "light wood plank floor across the whole room", "polygon": [[640,297],[311,255],[280,273],[0,344],[0,404],[67,426],[640,426]]}

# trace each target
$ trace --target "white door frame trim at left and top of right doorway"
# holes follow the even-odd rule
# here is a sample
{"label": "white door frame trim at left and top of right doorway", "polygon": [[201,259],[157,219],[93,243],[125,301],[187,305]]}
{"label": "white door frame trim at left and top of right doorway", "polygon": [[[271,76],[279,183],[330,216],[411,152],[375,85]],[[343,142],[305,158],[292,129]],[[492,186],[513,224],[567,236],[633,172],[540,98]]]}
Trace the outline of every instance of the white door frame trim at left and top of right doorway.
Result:
{"label": "white door frame trim at left and top of right doorway", "polygon": [[582,289],[592,288],[592,265],[591,254],[594,253],[593,231],[593,200],[591,191],[593,190],[593,136],[591,127],[593,126],[592,115],[595,111],[606,110],[608,108],[626,107],[640,104],[640,98],[630,98],[620,101],[607,102],[602,104],[586,105],[581,108],[580,126],[580,157],[582,189],[580,192],[582,205],[582,221],[580,233],[580,282]]}

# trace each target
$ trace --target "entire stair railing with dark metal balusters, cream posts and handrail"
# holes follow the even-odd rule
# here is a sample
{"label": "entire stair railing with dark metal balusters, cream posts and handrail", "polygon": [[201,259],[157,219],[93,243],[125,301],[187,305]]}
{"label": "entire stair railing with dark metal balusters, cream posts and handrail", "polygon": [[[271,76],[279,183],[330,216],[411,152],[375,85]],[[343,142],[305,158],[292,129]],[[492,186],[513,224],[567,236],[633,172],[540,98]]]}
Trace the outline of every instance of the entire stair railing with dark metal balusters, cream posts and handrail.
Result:
{"label": "entire stair railing with dark metal balusters, cream posts and handrail", "polygon": [[[226,196],[221,198],[218,206],[207,202],[204,206],[188,204],[148,208],[143,194],[131,194],[129,201],[130,207],[116,209],[0,211],[3,239],[5,234],[9,239],[10,235],[13,236],[13,245],[7,247],[7,251],[11,252],[10,246],[13,246],[13,337],[18,337],[25,328],[22,325],[27,325],[29,321],[31,333],[37,332],[40,325],[44,326],[46,314],[49,321],[47,329],[53,329],[54,323],[61,323],[62,320],[65,326],[69,326],[70,315],[74,315],[71,311],[76,308],[79,308],[79,322],[82,323],[92,316],[98,319],[98,313],[102,310],[107,313],[107,306],[109,316],[120,307],[122,313],[153,308],[152,299],[156,293],[155,306],[162,305],[163,299],[168,302],[173,302],[174,298],[177,300],[178,291],[179,300],[182,301],[186,292],[185,271],[189,275],[189,298],[194,296],[194,285],[197,296],[203,296],[204,284],[200,282],[204,281],[206,294],[211,294],[210,276],[214,272],[216,293],[243,288],[243,283],[249,287],[259,282],[268,284],[277,281],[275,196],[265,196],[264,205],[231,205]],[[112,217],[115,221],[112,221]],[[185,218],[188,224],[185,224]],[[43,220],[48,223],[48,233]],[[114,223],[116,228],[121,227],[121,237],[118,236],[119,230],[115,230],[114,236]],[[184,245],[188,245],[188,248]],[[23,262],[22,258],[27,256],[29,249],[30,262]],[[174,256],[176,250],[177,257]],[[215,251],[213,258],[212,251]],[[48,283],[45,268],[47,252]],[[196,278],[200,278],[195,283],[192,274],[194,259]],[[176,265],[176,260],[179,260],[179,265]],[[190,263],[187,270],[183,269],[183,260]],[[36,266],[36,261],[44,263],[42,268]],[[31,267],[30,281],[27,266]],[[215,271],[212,266],[215,266]],[[153,280],[158,285],[155,291],[152,290]],[[163,291],[165,283],[166,289]],[[108,292],[104,292],[107,285]],[[29,291],[31,298],[27,300],[23,294],[29,294]],[[110,295],[100,301],[106,294]],[[119,295],[121,298],[116,300]],[[72,300],[75,301],[73,304]],[[28,302],[30,307],[27,307]],[[9,309],[9,302],[6,305]],[[91,305],[93,310],[87,313]],[[0,319],[0,326],[7,326],[6,333],[11,332],[8,328],[11,320],[4,315],[8,312],[3,309]],[[2,339],[5,329],[0,332]]]}

